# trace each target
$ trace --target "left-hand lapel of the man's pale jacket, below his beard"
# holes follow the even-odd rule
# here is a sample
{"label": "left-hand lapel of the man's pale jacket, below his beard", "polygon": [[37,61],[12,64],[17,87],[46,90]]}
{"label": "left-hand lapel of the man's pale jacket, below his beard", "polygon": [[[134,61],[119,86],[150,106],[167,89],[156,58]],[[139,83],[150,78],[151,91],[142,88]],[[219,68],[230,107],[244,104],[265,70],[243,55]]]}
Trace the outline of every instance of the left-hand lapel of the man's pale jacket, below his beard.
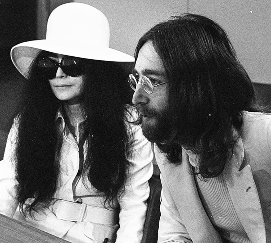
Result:
{"label": "left-hand lapel of the man's pale jacket, below his beard", "polygon": [[199,199],[188,155],[183,151],[182,156],[182,163],[178,166],[169,163],[166,156],[157,159],[162,159],[159,163],[162,164],[161,173],[165,176],[184,225],[194,243],[222,243]]}

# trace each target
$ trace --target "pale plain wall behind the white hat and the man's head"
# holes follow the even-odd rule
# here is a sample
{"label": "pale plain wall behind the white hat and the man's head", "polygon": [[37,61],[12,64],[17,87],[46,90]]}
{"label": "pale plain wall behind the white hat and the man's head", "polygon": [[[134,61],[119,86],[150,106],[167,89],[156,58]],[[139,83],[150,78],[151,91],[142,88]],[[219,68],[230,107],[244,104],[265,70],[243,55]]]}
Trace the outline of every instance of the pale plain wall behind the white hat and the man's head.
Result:
{"label": "pale plain wall behind the white hat and the man's head", "polygon": [[[38,0],[49,11],[68,0]],[[271,84],[270,0],[74,0],[102,11],[110,25],[110,47],[133,55],[140,36],[159,21],[184,12],[217,21],[228,33],[253,82]],[[40,15],[38,15],[40,16]],[[38,37],[45,38],[46,16],[39,20]]]}

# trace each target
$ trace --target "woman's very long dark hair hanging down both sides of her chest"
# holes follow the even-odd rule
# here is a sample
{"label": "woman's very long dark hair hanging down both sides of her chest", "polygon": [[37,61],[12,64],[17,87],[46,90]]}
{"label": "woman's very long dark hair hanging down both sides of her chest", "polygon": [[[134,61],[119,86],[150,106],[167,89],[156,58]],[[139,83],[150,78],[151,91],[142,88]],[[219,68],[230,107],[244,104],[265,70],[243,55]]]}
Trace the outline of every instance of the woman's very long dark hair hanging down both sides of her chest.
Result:
{"label": "woman's very long dark hair hanging down both sides of her chest", "polygon": [[[62,133],[55,126],[55,119],[61,102],[37,69],[37,60],[48,55],[41,51],[31,65],[18,115],[15,151],[18,201],[21,210],[27,209],[30,213],[51,202],[60,173]],[[125,120],[129,108],[125,106],[123,81],[127,78],[118,63],[82,61],[86,72],[82,106],[87,117],[85,130],[89,135],[83,177],[104,194],[105,202],[110,203],[124,190],[128,172],[126,158],[131,154],[133,142],[133,134]],[[33,198],[29,204],[26,203],[28,198]]]}

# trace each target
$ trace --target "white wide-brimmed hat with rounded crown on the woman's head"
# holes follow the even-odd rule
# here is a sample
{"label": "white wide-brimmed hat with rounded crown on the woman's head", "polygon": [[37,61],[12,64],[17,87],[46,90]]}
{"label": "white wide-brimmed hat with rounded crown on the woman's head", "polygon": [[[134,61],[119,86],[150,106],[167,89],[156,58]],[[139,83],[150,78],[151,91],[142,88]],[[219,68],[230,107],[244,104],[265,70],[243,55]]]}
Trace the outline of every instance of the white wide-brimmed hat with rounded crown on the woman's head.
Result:
{"label": "white wide-brimmed hat with rounded crown on the woman's head", "polygon": [[11,60],[27,78],[40,50],[86,59],[134,62],[134,57],[109,48],[109,24],[98,9],[70,2],[55,8],[47,22],[46,39],[20,43],[11,49]]}

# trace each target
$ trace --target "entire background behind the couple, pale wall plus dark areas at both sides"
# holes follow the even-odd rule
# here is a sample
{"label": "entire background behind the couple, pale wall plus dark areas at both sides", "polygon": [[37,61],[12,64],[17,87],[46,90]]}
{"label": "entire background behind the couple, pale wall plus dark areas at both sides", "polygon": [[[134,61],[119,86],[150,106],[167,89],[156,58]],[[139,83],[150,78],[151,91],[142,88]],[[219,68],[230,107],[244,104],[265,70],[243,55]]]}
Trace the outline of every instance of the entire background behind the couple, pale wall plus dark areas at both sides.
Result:
{"label": "entire background behind the couple, pale wall plus dark areas at both sides", "polygon": [[[0,4],[0,130],[8,130],[25,79],[9,57],[22,41],[44,39],[47,18],[73,0],[2,0]],[[75,0],[101,10],[108,18],[110,47],[133,55],[140,36],[159,21],[184,12],[217,21],[228,33],[237,55],[255,83],[259,100],[271,99],[270,0]],[[263,85],[270,84],[270,85]],[[7,125],[8,124],[8,125]]]}

